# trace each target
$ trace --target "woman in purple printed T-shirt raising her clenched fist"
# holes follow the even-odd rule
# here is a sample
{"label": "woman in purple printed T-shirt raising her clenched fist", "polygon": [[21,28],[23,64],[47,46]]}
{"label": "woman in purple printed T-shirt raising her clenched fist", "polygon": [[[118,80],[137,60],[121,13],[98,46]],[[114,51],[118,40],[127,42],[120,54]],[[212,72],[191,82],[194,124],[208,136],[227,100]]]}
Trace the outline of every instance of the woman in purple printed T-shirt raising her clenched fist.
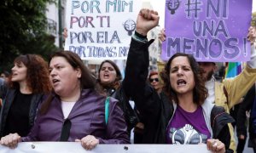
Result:
{"label": "woman in purple printed T-shirt raising her clenched fist", "polygon": [[223,107],[207,102],[207,88],[201,69],[189,54],[173,54],[160,73],[164,82],[158,94],[147,82],[147,33],[158,25],[157,12],[142,9],[137,17],[137,29],[131,39],[125,79],[125,92],[134,100],[143,116],[144,144],[207,144],[213,152],[233,152],[229,149],[228,122],[233,118]]}

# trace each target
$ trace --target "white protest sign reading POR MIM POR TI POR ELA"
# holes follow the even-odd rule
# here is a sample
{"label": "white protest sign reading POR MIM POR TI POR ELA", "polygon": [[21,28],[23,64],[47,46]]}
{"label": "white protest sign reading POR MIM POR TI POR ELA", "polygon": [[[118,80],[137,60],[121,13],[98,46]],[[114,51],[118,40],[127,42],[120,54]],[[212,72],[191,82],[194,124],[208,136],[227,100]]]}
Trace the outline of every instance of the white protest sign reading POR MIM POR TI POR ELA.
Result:
{"label": "white protest sign reading POR MIM POR TI POR ELA", "polygon": [[67,1],[65,50],[81,59],[126,59],[140,0]]}

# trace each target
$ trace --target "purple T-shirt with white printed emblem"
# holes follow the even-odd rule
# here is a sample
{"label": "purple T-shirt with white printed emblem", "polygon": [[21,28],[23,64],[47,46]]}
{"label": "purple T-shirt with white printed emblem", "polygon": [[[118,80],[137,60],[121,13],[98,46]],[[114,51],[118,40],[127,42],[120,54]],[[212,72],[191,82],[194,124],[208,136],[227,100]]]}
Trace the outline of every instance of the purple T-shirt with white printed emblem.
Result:
{"label": "purple T-shirt with white printed emblem", "polygon": [[177,105],[166,134],[168,144],[206,144],[211,137],[201,106],[194,112],[187,112]]}

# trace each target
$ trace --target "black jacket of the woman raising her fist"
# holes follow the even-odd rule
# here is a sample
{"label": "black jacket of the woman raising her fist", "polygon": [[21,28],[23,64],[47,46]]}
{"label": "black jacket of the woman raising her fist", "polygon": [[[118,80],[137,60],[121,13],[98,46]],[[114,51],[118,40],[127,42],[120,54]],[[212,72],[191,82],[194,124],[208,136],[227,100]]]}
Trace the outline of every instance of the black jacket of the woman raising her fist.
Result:
{"label": "black jacket of the woman raising her fist", "polygon": [[[150,42],[138,42],[132,38],[123,84],[126,94],[134,99],[138,111],[144,116],[143,143],[166,144],[166,127],[172,117],[174,107],[165,94],[162,93],[159,96],[146,82],[149,44]],[[213,139],[221,140],[226,149],[230,145],[228,122],[234,122],[234,119],[224,112],[224,108],[214,106],[211,112]],[[232,150],[227,150],[229,151],[232,152]]]}

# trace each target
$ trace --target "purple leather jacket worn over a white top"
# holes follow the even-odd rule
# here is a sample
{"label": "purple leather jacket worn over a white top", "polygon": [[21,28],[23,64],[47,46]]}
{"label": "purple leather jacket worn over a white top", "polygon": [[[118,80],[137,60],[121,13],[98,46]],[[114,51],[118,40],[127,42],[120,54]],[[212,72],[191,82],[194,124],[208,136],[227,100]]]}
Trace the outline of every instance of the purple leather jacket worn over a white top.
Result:
{"label": "purple leather jacket worn over a white top", "polygon": [[[129,144],[123,111],[116,99],[109,99],[108,125],[105,122],[105,96],[96,94],[91,89],[84,89],[80,99],[73,106],[67,117],[72,126],[68,141],[93,135],[100,139],[100,144]],[[45,115],[38,116],[31,132],[22,141],[59,141],[64,122],[61,99],[54,95]]]}

